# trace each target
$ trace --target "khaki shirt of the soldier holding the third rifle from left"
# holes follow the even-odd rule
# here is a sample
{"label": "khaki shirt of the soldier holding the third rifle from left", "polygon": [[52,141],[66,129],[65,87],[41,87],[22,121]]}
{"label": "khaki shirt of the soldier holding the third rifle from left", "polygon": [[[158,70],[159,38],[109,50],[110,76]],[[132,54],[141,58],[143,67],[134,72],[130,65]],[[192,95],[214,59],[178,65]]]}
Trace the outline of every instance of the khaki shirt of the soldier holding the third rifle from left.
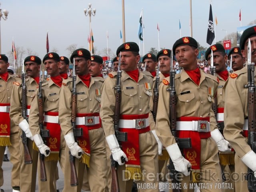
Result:
{"label": "khaki shirt of the soldier holding the third rifle from left", "polygon": [[[72,79],[64,80],[60,89],[59,118],[60,126],[64,135],[73,132],[71,124],[72,106]],[[102,82],[98,78],[90,80],[89,88],[76,76],[77,104],[76,113],[99,113],[100,95],[96,95],[96,90],[100,90]]]}

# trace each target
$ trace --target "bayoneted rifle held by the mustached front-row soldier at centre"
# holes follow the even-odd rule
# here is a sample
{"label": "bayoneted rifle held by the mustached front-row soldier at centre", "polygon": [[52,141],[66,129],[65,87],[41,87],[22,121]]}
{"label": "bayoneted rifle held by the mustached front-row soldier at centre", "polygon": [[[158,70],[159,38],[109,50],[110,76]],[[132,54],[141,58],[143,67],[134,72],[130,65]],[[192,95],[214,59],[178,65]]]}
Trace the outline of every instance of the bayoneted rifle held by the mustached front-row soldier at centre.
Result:
{"label": "bayoneted rifle held by the mustached front-row soldier at centre", "polygon": [[[117,71],[117,78],[116,78],[116,102],[115,102],[115,113],[114,113],[114,129],[115,135],[118,140],[118,143],[121,148],[121,141],[127,141],[127,133],[126,132],[119,132],[119,119],[120,119],[120,104],[121,104],[121,76],[122,71],[120,69],[121,66],[121,52],[120,52],[120,59],[118,63],[118,71]],[[110,156],[111,159],[111,172],[112,172],[112,179],[111,179],[111,192],[120,192],[119,184],[118,184],[118,175],[117,175],[117,166],[118,163],[113,159],[112,155]],[[124,157],[122,157],[122,162],[124,162]]]}

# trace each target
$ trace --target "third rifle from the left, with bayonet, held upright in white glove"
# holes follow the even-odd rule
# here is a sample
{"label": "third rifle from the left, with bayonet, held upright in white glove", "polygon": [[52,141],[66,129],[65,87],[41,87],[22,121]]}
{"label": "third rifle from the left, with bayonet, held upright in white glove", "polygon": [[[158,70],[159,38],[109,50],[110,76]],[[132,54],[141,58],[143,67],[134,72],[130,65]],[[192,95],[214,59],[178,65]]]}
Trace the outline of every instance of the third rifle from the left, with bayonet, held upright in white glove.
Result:
{"label": "third rifle from the left, with bayonet, held upright in white glove", "polygon": [[[76,93],[76,69],[75,69],[75,59],[73,60],[73,74],[72,74],[72,112],[71,112],[71,123],[72,129],[74,133],[75,142],[77,142],[77,137],[83,135],[82,128],[76,128],[76,103],[77,103],[77,93]],[[78,178],[76,173],[76,158],[72,156],[71,152],[69,154],[69,162],[70,162],[70,185],[78,186]],[[79,152],[80,156],[82,153]]]}

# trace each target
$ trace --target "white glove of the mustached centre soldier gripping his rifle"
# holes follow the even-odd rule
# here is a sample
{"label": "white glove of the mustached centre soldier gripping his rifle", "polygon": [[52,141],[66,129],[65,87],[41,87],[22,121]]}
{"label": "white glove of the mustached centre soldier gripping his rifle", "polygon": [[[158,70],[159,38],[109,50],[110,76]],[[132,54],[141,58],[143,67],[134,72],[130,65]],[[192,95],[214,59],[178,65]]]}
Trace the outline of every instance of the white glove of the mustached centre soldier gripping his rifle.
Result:
{"label": "white glove of the mustached centre soldier gripping his rifle", "polygon": [[128,161],[128,158],[126,154],[120,149],[120,146],[118,144],[118,141],[116,139],[115,135],[109,135],[106,137],[106,141],[108,143],[108,146],[112,152],[113,159],[118,162],[119,165],[124,165],[124,162],[122,163],[121,158],[124,157],[126,161]]}

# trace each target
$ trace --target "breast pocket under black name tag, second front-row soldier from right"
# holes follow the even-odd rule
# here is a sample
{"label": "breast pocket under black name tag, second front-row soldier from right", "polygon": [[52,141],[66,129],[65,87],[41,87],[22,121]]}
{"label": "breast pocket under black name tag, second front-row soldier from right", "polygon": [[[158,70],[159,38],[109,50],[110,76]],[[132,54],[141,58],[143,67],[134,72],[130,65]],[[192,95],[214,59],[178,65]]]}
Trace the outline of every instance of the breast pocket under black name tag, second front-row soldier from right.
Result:
{"label": "breast pocket under black name tag, second front-row soldier from right", "polygon": [[180,115],[184,116],[196,110],[195,102],[193,102],[194,98],[195,98],[194,93],[178,96],[177,110],[180,110]]}

